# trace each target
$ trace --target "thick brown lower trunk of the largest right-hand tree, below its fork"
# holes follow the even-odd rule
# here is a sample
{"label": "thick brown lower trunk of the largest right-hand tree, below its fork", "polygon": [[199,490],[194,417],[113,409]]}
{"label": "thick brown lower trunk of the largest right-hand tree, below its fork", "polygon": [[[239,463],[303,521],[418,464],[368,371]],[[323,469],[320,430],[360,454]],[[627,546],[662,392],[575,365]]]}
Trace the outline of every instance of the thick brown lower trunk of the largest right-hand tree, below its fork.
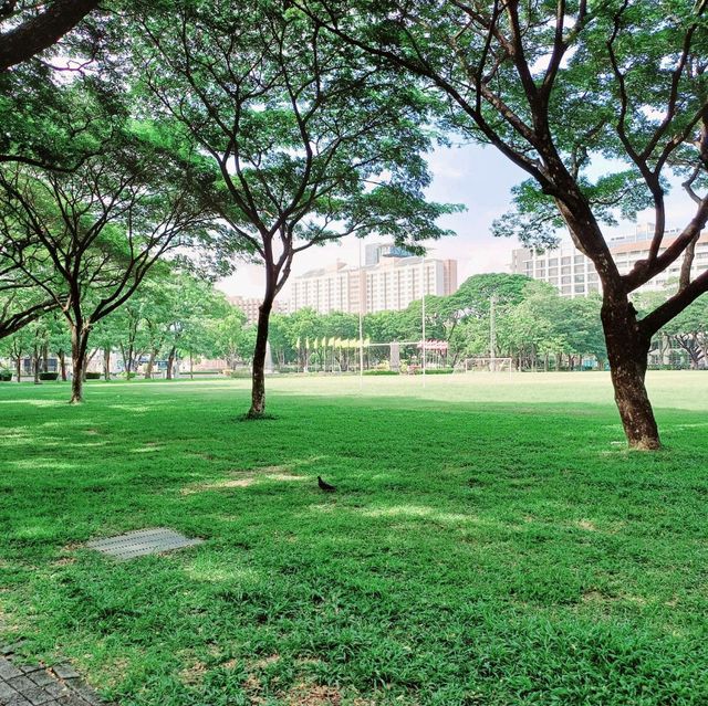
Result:
{"label": "thick brown lower trunk of the largest right-hand tree, below its fork", "polygon": [[615,402],[627,442],[633,449],[658,449],[659,433],[644,383],[650,337],[641,331],[626,295],[614,299],[605,296],[602,323]]}

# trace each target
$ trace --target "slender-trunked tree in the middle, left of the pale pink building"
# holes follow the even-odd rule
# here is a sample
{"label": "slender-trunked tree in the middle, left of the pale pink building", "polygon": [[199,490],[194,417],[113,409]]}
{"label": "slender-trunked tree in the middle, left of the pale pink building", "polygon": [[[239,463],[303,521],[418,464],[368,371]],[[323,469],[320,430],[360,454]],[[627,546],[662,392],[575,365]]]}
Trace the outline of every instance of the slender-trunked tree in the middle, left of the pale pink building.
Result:
{"label": "slender-trunked tree in the middle, left of the pale pink building", "polygon": [[296,254],[352,233],[444,234],[435,219],[450,209],[423,196],[429,97],[280,0],[149,7],[135,18],[139,75],[211,158],[209,203],[263,263],[248,412],[259,418],[270,314]]}

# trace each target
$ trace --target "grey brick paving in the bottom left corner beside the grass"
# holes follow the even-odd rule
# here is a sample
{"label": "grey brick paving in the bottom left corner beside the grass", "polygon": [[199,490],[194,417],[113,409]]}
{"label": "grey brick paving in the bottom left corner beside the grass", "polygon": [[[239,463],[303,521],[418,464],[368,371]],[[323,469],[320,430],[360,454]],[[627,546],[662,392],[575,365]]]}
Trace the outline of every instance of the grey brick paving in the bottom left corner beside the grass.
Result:
{"label": "grey brick paving in the bottom left corner beside the grass", "polygon": [[23,665],[0,647],[0,706],[106,706],[69,664]]}

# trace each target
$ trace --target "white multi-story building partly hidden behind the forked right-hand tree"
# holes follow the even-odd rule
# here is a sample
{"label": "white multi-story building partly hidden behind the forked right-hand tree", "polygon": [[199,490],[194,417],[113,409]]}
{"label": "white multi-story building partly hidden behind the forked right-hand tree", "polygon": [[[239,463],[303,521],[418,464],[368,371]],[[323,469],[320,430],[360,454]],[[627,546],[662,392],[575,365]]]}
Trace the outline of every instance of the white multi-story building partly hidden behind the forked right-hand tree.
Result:
{"label": "white multi-story building partly hidden behind the forked right-hand tree", "polygon": [[[679,230],[667,231],[659,253],[664,252],[679,233]],[[613,238],[608,241],[610,252],[622,274],[629,272],[637,261],[648,257],[653,235],[654,225],[646,223],[637,226],[633,234]],[[563,296],[587,296],[592,292],[601,291],[600,277],[592,261],[585,257],[572,243],[540,253],[528,247],[518,247],[511,256],[512,273],[549,282]],[[680,264],[681,259],[679,257],[667,270],[649,280],[641,287],[641,291],[663,289],[670,280],[678,277]],[[708,270],[708,232],[701,233],[696,244],[691,276],[706,270]]]}

